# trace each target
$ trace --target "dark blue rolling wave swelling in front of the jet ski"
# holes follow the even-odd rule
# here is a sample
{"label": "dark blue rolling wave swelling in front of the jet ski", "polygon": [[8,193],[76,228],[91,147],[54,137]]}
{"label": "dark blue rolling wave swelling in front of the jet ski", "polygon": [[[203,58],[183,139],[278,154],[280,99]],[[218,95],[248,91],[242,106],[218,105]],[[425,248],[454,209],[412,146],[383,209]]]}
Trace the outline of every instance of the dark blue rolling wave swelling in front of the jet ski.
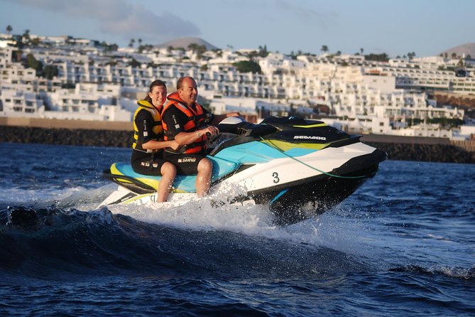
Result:
{"label": "dark blue rolling wave swelling in front of the jet ski", "polygon": [[58,206],[0,210],[0,258],[5,272],[45,277],[126,273],[284,278],[368,269],[361,259],[321,245],[211,227],[170,227],[107,208]]}

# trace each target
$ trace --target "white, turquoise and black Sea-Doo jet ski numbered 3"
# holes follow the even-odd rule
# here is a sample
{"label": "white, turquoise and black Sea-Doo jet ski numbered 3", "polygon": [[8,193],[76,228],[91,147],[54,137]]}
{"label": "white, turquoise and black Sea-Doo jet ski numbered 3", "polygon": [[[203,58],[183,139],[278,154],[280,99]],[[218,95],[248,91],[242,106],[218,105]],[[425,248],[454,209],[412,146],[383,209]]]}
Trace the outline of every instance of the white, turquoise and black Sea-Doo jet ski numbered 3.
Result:
{"label": "white, turquoise and black Sea-Doo jet ski numbered 3", "polygon": [[[268,205],[279,225],[324,213],[378,171],[386,152],[324,122],[267,117],[259,124],[229,117],[219,123],[219,140],[209,147],[213,162],[210,195],[229,193],[238,205]],[[119,186],[101,205],[150,203],[160,176],[135,173],[130,163],[113,163],[103,176]],[[196,176],[177,175],[168,201],[196,198]],[[225,190],[228,190],[227,192]]]}

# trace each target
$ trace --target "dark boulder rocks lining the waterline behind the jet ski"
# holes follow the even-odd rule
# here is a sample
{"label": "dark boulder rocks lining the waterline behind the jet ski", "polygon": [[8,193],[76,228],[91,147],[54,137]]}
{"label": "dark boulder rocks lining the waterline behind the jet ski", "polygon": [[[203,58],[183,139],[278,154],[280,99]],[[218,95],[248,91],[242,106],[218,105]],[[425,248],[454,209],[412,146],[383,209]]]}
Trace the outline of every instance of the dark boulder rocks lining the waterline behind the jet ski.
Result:
{"label": "dark boulder rocks lining the waterline behind the jet ski", "polygon": [[[129,147],[133,142],[133,132],[0,126],[0,142]],[[386,151],[388,159],[392,160],[475,163],[474,154],[450,144],[386,143],[380,141],[364,141],[364,143]]]}

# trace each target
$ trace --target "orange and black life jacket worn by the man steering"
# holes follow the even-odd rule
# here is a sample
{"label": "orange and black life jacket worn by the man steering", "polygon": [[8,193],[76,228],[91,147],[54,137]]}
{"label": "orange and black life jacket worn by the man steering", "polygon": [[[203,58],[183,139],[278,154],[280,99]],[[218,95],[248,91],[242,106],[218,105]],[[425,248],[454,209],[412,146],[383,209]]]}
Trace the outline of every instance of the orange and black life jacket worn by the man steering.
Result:
{"label": "orange and black life jacket worn by the man steering", "polygon": [[[178,92],[173,92],[168,96],[168,104],[163,107],[162,110],[162,117],[165,116],[165,112],[170,109],[171,107],[176,107],[177,109],[180,109],[181,112],[186,114],[188,118],[188,122],[185,124],[183,127],[184,132],[194,132],[198,131],[200,127],[204,126],[204,119],[205,119],[205,114],[203,111],[203,108],[195,102],[195,109],[192,109],[192,107],[188,107],[185,102],[180,98],[178,95]],[[168,140],[173,140],[175,139],[174,136],[171,134],[171,132],[168,130],[167,124],[165,122],[162,122],[163,124],[163,132],[164,132],[164,139],[165,141]],[[166,151],[172,152],[172,153],[186,153],[186,154],[193,154],[193,153],[200,153],[201,151],[206,150],[206,134],[203,134],[200,138],[197,137],[197,139],[192,143],[192,144],[187,144],[185,146],[182,146],[180,150],[173,150],[171,148],[167,148]]]}

